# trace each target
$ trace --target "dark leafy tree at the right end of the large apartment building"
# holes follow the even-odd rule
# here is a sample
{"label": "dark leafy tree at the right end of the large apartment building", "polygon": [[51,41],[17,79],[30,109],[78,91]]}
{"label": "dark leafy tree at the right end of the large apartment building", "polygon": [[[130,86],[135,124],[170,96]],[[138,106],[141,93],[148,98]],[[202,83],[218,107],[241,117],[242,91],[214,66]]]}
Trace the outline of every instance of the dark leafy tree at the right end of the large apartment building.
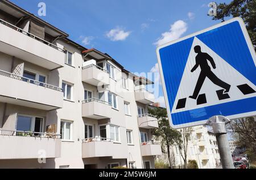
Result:
{"label": "dark leafy tree at the right end of the large apartment building", "polygon": [[153,135],[155,140],[161,142],[162,152],[165,153],[165,149],[167,148],[167,155],[170,167],[174,165],[173,161],[171,160],[171,153],[170,148],[174,144],[174,139],[181,140],[180,132],[173,130],[168,122],[167,119],[167,111],[164,108],[149,108],[148,113],[155,115],[158,119],[158,126],[159,128],[155,128],[153,131]]}

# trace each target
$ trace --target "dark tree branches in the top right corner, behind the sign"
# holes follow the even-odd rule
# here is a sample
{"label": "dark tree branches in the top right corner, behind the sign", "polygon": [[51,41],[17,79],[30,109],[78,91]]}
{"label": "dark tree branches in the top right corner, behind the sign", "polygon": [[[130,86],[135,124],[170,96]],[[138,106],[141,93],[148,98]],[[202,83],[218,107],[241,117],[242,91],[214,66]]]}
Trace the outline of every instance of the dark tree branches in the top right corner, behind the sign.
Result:
{"label": "dark tree branches in the top right corner, behind the sign", "polygon": [[225,21],[225,17],[241,17],[246,24],[247,31],[256,50],[256,1],[233,0],[229,4],[220,3],[217,6],[217,16],[213,20]]}

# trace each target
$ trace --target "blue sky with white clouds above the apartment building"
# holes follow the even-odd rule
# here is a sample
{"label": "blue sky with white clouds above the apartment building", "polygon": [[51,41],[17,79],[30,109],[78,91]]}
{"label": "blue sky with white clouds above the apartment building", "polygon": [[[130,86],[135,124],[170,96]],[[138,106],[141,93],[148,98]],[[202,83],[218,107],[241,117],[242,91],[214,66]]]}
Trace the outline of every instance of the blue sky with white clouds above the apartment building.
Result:
{"label": "blue sky with white clouds above the apartment building", "polygon": [[[231,0],[215,0],[230,2]],[[131,72],[157,71],[156,46],[220,21],[207,16],[208,0],[11,0],[86,48],[108,53]],[[171,28],[172,26],[172,28]],[[162,87],[160,87],[161,89]],[[157,96],[157,95],[156,95]],[[163,103],[160,91],[158,101]]]}

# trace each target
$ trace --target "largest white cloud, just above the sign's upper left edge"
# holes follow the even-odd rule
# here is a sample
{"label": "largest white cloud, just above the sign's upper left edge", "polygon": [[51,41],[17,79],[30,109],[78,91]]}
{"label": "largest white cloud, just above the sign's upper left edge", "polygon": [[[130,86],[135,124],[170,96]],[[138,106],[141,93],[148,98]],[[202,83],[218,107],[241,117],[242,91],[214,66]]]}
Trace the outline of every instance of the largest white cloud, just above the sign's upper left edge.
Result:
{"label": "largest white cloud, just above the sign's upper left edge", "polygon": [[158,38],[158,41],[154,44],[160,46],[167,42],[174,41],[180,38],[180,36],[187,31],[187,28],[187,23],[183,20],[177,20],[174,24],[171,24],[170,31],[162,33],[162,37]]}

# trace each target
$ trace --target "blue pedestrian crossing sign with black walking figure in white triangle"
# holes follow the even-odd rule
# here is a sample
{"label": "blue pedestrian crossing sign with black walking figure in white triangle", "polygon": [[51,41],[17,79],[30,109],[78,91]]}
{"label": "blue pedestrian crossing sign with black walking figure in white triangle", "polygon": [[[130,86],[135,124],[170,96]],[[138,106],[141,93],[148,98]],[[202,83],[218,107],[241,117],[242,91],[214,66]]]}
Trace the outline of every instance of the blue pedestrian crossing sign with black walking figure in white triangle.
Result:
{"label": "blue pedestrian crossing sign with black walking figure in white triangle", "polygon": [[241,18],[156,52],[172,128],[205,125],[214,115],[256,115],[256,54]]}

